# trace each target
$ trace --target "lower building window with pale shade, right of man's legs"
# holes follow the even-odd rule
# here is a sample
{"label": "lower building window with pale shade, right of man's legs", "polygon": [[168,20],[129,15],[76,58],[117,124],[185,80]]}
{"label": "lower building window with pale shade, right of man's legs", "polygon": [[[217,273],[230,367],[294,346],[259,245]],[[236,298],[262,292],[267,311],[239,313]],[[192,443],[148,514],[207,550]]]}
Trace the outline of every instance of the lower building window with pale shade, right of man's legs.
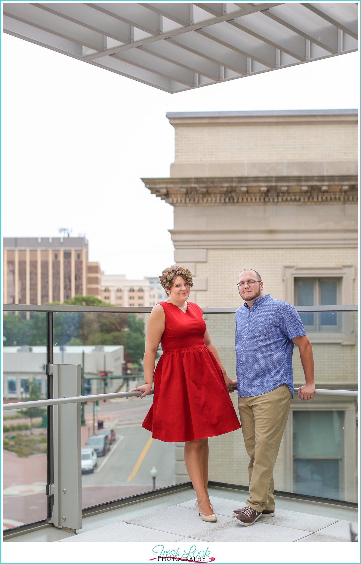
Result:
{"label": "lower building window with pale shade, right of man's legs", "polygon": [[293,491],[340,498],[344,411],[293,411]]}

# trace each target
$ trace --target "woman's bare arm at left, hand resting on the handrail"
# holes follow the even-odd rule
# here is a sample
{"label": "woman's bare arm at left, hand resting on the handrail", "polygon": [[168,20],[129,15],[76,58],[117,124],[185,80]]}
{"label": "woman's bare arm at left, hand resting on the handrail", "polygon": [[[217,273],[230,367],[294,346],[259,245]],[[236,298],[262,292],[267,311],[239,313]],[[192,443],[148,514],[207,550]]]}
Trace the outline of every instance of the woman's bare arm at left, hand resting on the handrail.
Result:
{"label": "woman's bare arm at left, hand resting on the handrail", "polygon": [[165,329],[165,315],[162,306],[157,303],[153,307],[151,314],[148,318],[147,323],[147,335],[146,335],[146,352],[144,352],[143,358],[143,368],[144,368],[144,384],[134,388],[131,391],[142,391],[143,394],[140,398],[144,398],[145,395],[149,394],[152,389],[153,384],[153,374],[156,364],[156,354],[159,347],[159,343],[164,333]]}

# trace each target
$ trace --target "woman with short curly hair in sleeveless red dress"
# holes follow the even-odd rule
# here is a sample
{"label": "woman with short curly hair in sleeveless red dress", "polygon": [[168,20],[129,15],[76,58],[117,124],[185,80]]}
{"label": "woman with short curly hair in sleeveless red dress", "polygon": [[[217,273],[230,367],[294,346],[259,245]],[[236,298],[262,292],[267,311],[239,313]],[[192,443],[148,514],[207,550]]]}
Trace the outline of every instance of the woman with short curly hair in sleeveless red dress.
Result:
{"label": "woman with short curly hair in sleeveless red dress", "polygon": [[[203,521],[217,521],[208,496],[208,437],[240,428],[229,392],[231,380],[210,340],[202,310],[188,302],[192,275],[171,266],[160,276],[168,299],[153,307],[147,324],[144,353],[144,398],[152,389],[152,407],[143,427],[153,438],[184,441],[184,462],[196,491]],[[161,342],[163,354],[154,372]]]}

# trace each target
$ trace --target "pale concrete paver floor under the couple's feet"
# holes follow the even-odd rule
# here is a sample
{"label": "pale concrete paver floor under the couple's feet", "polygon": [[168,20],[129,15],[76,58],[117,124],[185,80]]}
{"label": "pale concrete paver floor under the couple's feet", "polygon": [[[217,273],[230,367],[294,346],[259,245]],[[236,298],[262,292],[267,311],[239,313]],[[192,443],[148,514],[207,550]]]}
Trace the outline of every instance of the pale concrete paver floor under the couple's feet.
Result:
{"label": "pale concrete paver floor under the couple's feet", "polygon": [[232,512],[245,505],[246,491],[211,488],[216,523],[201,521],[193,490],[170,493],[153,500],[83,518],[72,535],[55,527],[8,539],[21,541],[350,541],[350,522],[358,528],[356,509],[277,497],[275,517],[261,517],[243,527]]}

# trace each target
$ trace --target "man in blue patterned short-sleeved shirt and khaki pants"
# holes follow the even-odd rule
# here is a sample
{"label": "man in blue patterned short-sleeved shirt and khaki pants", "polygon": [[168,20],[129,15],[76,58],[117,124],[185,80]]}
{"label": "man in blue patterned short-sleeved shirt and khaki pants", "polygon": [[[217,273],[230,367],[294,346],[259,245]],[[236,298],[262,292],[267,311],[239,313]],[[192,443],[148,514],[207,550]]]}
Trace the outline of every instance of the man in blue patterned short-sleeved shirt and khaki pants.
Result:
{"label": "man in blue patterned short-sleeved shirt and khaki pants", "polygon": [[[236,374],[238,408],[248,465],[249,499],[235,509],[237,523],[253,525],[273,517],[273,470],[293,398],[293,346],[300,349],[306,384],[302,400],[315,392],[312,345],[297,311],[287,302],[263,294],[258,272],[250,268],[238,277],[243,306],[236,311]],[[294,343],[294,345],[293,345]]]}

